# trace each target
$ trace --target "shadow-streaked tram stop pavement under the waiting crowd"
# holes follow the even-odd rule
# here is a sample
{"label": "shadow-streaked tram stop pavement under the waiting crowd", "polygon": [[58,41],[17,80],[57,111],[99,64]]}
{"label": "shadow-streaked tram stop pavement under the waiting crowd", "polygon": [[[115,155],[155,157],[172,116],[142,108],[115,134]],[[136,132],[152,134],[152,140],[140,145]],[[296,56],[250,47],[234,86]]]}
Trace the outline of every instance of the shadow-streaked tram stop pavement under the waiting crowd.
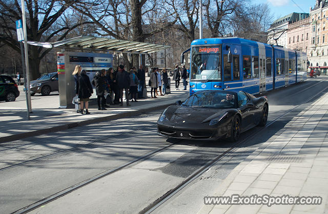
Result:
{"label": "shadow-streaked tram stop pavement under the waiting crowd", "polygon": [[[183,91],[182,87],[180,91],[171,90],[170,94],[157,99],[129,102],[131,106],[126,106],[126,101],[124,106],[111,105],[107,111],[99,111],[97,104],[91,104],[89,115],[77,114],[74,109],[58,109],[59,95],[33,96],[31,120],[27,120],[26,100],[23,98],[15,102],[0,102],[0,143],[160,110],[189,96],[189,90]],[[25,94],[21,93],[21,96],[25,97]]]}

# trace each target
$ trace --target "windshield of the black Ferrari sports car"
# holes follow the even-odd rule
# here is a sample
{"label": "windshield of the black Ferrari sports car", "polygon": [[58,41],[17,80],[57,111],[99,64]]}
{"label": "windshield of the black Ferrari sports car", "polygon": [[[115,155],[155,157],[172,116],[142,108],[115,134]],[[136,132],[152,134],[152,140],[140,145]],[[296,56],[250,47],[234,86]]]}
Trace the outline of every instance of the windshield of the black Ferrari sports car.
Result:
{"label": "windshield of the black Ferrari sports car", "polygon": [[235,108],[235,95],[219,91],[206,91],[193,94],[181,105],[201,108]]}

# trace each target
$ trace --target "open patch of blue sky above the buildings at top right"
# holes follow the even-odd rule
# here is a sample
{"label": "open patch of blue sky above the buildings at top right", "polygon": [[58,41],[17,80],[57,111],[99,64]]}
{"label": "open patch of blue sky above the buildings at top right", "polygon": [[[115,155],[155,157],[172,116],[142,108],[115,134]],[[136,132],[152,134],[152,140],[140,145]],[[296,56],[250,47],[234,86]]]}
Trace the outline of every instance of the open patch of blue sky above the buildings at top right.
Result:
{"label": "open patch of blue sky above the buildings at top right", "polygon": [[310,13],[310,7],[314,8],[314,5],[316,4],[316,0],[293,0],[294,2],[292,0],[251,0],[251,1],[256,4],[268,3],[271,12],[274,15],[274,20],[282,16],[288,15],[292,12]]}

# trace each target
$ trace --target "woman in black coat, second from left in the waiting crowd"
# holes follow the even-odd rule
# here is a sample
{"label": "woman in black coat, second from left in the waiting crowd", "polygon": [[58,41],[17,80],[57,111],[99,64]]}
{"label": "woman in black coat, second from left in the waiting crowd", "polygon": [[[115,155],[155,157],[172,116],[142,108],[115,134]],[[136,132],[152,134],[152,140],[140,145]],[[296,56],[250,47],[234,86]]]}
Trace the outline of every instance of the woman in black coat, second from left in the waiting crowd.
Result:
{"label": "woman in black coat, second from left in the waiting crowd", "polygon": [[[81,74],[78,78],[78,98],[80,99],[80,113],[86,113],[86,114],[90,114],[90,112],[88,111],[89,108],[89,100],[90,97],[93,93],[93,89],[92,89],[92,85],[90,82],[90,79],[87,75],[87,71],[86,70],[81,70]],[[84,103],[86,103],[86,111],[83,112],[84,109]]]}

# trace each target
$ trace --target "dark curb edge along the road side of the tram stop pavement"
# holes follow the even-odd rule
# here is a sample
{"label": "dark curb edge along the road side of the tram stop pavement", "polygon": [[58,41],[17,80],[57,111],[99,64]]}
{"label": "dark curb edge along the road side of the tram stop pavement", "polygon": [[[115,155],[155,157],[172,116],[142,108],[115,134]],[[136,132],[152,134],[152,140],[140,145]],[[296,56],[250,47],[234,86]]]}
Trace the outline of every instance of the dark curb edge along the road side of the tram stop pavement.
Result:
{"label": "dark curb edge along the road side of the tram stop pavement", "polygon": [[84,121],[80,121],[80,122],[71,122],[71,123],[67,123],[67,124],[64,124],[64,125],[57,125],[57,126],[47,128],[47,129],[40,129],[40,130],[36,130],[36,131],[30,131],[30,132],[25,132],[25,133],[19,133],[19,134],[14,134],[14,135],[10,135],[10,136],[0,137],[0,143],[6,143],[6,142],[10,142],[10,141],[24,139],[24,138],[27,138],[27,137],[34,137],[34,136],[38,136],[38,135],[44,135],[44,134],[51,133],[51,132],[60,132],[60,131],[75,128],[77,126],[84,126],[84,125],[89,125],[89,124],[93,124],[93,123],[105,122],[105,121],[109,121],[109,120],[116,120],[116,119],[120,119],[120,118],[123,118],[123,117],[137,116],[137,115],[149,113],[151,111],[155,111],[155,110],[159,110],[159,109],[165,109],[168,106],[173,105],[173,104],[174,103],[157,105],[157,106],[150,107],[148,109],[141,109],[141,110],[125,112],[125,113],[121,113],[121,114],[109,115],[109,116],[106,116],[106,117],[98,117],[98,118],[93,118],[93,119],[84,120]]}

